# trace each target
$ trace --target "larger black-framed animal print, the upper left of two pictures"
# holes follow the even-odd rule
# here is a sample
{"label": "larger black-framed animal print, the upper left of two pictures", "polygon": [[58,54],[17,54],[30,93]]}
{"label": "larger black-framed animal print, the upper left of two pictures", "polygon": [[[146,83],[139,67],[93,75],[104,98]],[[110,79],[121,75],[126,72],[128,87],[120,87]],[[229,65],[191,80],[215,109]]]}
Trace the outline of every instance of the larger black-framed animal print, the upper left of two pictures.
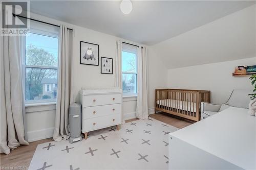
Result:
{"label": "larger black-framed animal print, the upper left of two pictures", "polygon": [[99,65],[99,45],[80,41],[80,64]]}

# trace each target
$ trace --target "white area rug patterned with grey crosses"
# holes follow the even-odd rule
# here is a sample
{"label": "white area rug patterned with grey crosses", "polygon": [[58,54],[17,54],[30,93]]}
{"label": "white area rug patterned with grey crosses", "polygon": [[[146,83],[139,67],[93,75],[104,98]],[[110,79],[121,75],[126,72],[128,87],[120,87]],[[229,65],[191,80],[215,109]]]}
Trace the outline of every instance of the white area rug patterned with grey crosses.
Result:
{"label": "white area rug patterned with grey crosses", "polygon": [[88,139],[38,144],[29,169],[168,169],[168,133],[156,119],[90,132]]}

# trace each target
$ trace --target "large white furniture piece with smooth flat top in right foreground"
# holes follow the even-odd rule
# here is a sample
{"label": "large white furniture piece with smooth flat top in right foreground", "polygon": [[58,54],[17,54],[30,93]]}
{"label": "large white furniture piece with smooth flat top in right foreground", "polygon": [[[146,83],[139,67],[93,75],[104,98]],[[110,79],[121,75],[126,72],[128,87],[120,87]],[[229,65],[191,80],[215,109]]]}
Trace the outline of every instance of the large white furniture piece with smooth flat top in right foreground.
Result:
{"label": "large white furniture piece with smooth flat top in right foreground", "polygon": [[[187,159],[186,157],[204,151],[206,154],[214,156],[212,158],[229,162],[230,166],[256,169],[256,117],[250,116],[248,109],[228,108],[169,135],[173,141],[178,139],[185,142],[183,144],[181,142],[170,143],[169,146],[172,146],[173,149],[185,148],[189,145],[191,149],[193,147],[199,149],[195,152],[186,153],[184,160]],[[176,160],[180,158],[179,153],[172,152],[172,148],[169,152],[169,157],[173,158],[173,167],[183,167],[184,164],[188,163],[184,161],[183,164],[179,162],[177,164]],[[207,161],[205,157],[198,157],[197,159],[200,162]],[[198,167],[199,165],[192,162],[190,168],[193,168],[191,166]]]}

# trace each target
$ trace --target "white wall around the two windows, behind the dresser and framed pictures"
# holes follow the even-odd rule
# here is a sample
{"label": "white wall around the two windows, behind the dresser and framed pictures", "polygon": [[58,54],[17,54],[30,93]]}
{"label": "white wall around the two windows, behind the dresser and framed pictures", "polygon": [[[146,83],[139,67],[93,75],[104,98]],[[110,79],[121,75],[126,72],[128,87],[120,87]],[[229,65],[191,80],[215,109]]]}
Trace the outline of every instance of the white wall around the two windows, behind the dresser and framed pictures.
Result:
{"label": "white wall around the two windows, behind the dresser and framed pictures", "polygon": [[[31,18],[38,19],[60,25],[61,22],[48,17],[40,16],[31,13]],[[90,29],[78,27],[65,23],[69,28],[73,28],[73,85],[74,85],[74,100],[78,102],[78,92],[82,87],[86,88],[100,88],[100,87],[114,87],[115,75],[100,74],[100,61],[99,66],[83,65],[80,64],[80,41],[91,42],[99,44],[99,60],[100,57],[113,58],[113,63],[116,60],[116,41],[120,38],[93,31]],[[142,45],[136,42],[123,40],[133,44]],[[163,87],[166,85],[167,69],[162,67],[162,62],[155,58],[155,55],[151,55],[150,47],[148,48],[148,65],[149,65],[149,90],[150,94],[150,113],[154,113],[154,89],[156,87]],[[115,70],[115,65],[113,66]],[[158,75],[158,70],[161,70],[163,74]],[[165,82],[163,82],[163,80]],[[157,82],[156,82],[157,81]],[[135,118],[136,116],[136,103],[137,98],[125,98],[123,99],[123,114],[125,119]],[[51,137],[54,127],[55,119],[55,105],[44,106],[27,106],[26,107],[27,118],[27,131],[29,141],[44,139]]]}

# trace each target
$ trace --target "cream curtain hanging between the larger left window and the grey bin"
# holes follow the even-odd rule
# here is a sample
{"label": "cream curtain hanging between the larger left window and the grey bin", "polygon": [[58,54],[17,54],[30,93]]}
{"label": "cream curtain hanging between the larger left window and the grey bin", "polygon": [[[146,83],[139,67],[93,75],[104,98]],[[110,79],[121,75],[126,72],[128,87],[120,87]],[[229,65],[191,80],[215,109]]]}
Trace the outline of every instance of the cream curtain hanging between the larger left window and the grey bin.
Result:
{"label": "cream curtain hanging between the larger left window and the grey bin", "polygon": [[[60,26],[58,56],[58,90],[53,140],[68,139],[69,105],[71,94],[71,51],[72,35],[67,26]],[[72,100],[72,98],[71,98]]]}

